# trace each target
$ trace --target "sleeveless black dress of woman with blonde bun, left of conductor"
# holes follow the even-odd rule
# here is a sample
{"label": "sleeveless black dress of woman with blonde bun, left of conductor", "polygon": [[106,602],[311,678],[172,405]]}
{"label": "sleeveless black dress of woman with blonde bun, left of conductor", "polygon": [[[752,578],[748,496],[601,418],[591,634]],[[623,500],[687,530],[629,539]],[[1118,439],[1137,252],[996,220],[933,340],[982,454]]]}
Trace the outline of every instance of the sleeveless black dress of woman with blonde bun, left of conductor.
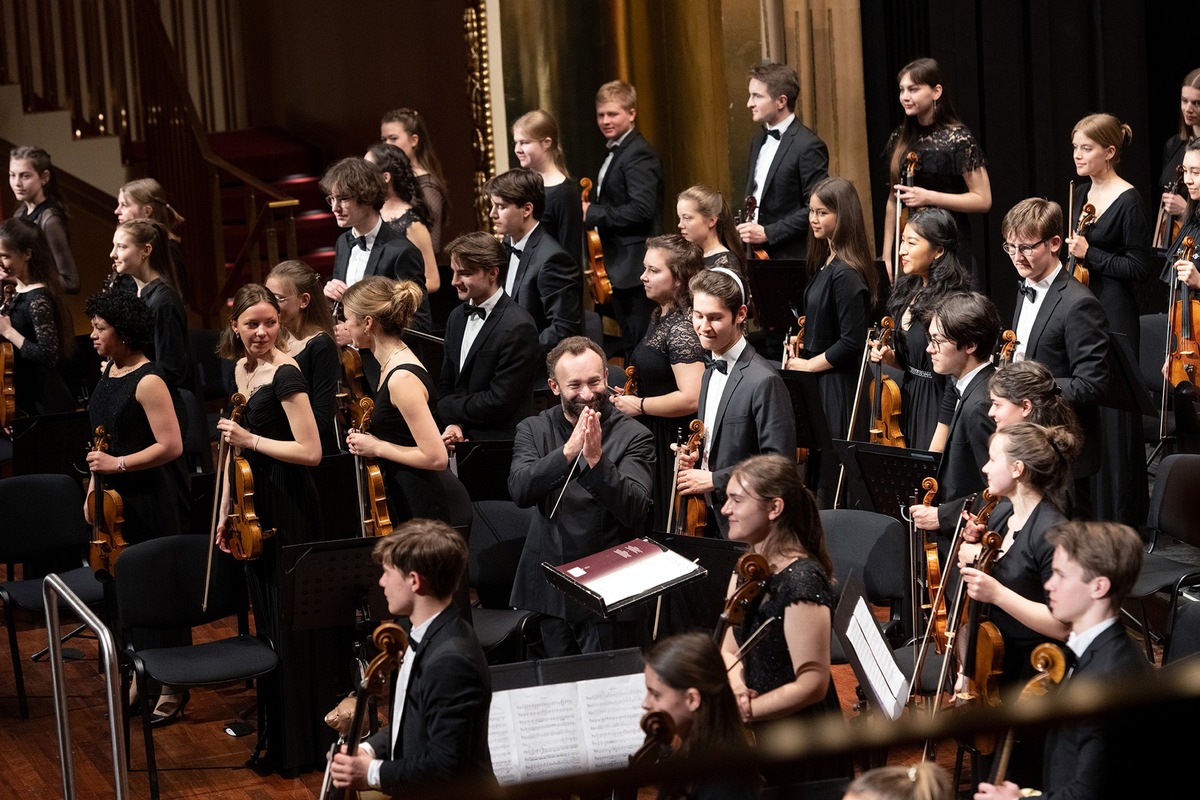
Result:
{"label": "sleeveless black dress of woman with blonde bun, left of conductor", "polygon": [[[415,447],[416,439],[408,427],[408,421],[404,420],[400,409],[391,404],[391,395],[388,391],[391,377],[401,369],[410,372],[420,379],[425,391],[428,392],[430,414],[437,420],[438,389],[433,379],[430,378],[430,373],[420,365],[402,363],[388,373],[388,377],[379,385],[379,391],[376,392],[371,433],[394,445]],[[434,470],[407,467],[386,458],[380,458],[378,462],[388,487],[388,506],[392,525],[415,518],[442,521],[449,518],[445,493]]]}

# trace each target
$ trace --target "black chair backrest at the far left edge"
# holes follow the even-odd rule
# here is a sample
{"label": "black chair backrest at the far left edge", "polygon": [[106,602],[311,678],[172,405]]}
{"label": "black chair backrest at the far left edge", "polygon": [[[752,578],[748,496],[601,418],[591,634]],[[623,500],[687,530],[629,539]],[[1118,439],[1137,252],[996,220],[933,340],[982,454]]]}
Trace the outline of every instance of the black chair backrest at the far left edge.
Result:
{"label": "black chair backrest at the far left edge", "polygon": [[79,566],[88,545],[83,491],[66,475],[17,475],[0,481],[0,560],[64,555]]}

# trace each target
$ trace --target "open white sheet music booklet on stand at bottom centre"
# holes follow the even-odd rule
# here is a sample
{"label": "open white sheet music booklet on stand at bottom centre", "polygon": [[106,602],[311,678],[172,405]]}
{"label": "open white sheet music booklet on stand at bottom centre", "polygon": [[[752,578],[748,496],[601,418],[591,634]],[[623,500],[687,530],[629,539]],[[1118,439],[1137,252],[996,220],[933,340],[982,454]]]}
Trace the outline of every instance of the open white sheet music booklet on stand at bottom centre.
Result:
{"label": "open white sheet music booklet on stand at bottom centre", "polygon": [[641,673],[497,692],[487,744],[499,783],[624,766],[644,739]]}

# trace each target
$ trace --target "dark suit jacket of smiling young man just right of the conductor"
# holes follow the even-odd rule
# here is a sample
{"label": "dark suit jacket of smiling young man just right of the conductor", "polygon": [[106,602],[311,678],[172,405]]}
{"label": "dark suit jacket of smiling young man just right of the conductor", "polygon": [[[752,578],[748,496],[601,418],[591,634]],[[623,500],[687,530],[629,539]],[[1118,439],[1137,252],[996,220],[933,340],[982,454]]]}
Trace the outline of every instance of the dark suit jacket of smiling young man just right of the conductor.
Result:
{"label": "dark suit jacket of smiling young man just right of the conductor", "polygon": [[[704,419],[712,369],[704,371],[700,386],[697,419]],[[708,450],[708,469],[713,473],[713,509],[725,505],[725,489],[733,468],[749,456],[779,453],[796,459],[796,411],[779,371],[746,344],[730,367],[725,392],[716,407]],[[728,533],[725,515],[716,515],[721,536]]]}

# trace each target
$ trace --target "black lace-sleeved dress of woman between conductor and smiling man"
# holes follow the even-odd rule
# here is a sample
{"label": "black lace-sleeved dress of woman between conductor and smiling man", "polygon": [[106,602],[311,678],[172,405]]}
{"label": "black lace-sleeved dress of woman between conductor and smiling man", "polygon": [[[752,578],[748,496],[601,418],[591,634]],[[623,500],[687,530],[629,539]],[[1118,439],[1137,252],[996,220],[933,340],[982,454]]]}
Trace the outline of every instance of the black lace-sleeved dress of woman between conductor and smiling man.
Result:
{"label": "black lace-sleeved dress of woman between conductor and smiling man", "polygon": [[[656,309],[650,317],[650,327],[634,348],[630,363],[637,367],[637,379],[642,397],[660,397],[679,389],[672,365],[696,363],[704,360],[704,349],[691,325],[690,312],[672,308],[659,318]],[[654,416],[642,414],[635,417],[654,434],[654,453],[658,463],[654,471],[650,519],[654,530],[666,530],[667,511],[671,504],[671,477],[674,470],[674,453],[671,444],[689,435],[688,426],[695,414],[683,416]]]}

